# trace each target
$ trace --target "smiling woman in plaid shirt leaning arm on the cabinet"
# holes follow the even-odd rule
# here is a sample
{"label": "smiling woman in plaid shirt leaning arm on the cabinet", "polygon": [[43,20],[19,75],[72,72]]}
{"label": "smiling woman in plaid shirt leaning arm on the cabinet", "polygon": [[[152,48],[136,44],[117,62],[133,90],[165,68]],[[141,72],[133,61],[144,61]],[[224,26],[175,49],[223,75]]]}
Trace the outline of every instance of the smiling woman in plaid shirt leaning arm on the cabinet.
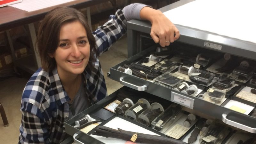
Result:
{"label": "smiling woman in plaid shirt leaning arm on the cabinet", "polygon": [[64,122],[107,96],[98,57],[126,33],[131,19],[150,20],[151,36],[162,46],[179,38],[163,13],[143,4],[118,10],[94,32],[73,8],[55,8],[45,16],[36,43],[42,68],[22,93],[19,143],[60,143]]}

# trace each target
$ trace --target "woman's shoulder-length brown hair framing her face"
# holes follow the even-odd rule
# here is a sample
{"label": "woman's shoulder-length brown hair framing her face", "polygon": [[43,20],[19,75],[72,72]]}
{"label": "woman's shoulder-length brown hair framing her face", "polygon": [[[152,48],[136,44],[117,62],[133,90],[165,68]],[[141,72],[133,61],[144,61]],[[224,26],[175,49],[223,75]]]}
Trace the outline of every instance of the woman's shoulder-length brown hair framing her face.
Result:
{"label": "woman's shoulder-length brown hair framing her face", "polygon": [[79,21],[84,26],[90,44],[90,58],[86,68],[92,68],[92,62],[98,56],[95,38],[82,12],[74,8],[57,7],[48,12],[42,20],[37,33],[37,48],[41,59],[42,68],[52,71],[56,67],[54,58],[49,54],[54,53],[60,41],[60,28],[64,23]]}

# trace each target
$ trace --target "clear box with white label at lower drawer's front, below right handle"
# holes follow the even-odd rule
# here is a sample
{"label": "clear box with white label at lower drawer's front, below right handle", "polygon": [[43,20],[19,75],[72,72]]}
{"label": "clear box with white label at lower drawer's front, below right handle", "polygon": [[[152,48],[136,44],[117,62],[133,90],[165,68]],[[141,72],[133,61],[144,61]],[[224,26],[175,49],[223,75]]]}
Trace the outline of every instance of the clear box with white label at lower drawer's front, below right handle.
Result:
{"label": "clear box with white label at lower drawer's front, below right handle", "polygon": [[199,144],[220,144],[227,137],[228,133],[227,127],[213,122],[200,136]]}

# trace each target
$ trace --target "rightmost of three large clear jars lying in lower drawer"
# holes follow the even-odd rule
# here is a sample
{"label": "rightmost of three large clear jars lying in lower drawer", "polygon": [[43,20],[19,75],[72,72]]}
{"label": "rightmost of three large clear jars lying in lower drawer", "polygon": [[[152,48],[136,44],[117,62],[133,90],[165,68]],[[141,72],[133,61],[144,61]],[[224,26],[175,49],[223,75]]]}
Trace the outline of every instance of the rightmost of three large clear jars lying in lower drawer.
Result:
{"label": "rightmost of three large clear jars lying in lower drawer", "polygon": [[146,109],[138,116],[138,121],[140,124],[149,126],[152,120],[159,116],[163,111],[163,106],[160,103],[154,102],[151,104],[150,108]]}

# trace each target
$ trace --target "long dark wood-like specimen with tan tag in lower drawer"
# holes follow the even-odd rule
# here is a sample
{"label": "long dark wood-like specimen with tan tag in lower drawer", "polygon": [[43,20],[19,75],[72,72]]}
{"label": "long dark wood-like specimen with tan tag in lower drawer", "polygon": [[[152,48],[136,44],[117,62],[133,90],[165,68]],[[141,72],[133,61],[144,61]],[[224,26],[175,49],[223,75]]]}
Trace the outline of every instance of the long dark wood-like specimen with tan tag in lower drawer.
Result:
{"label": "long dark wood-like specimen with tan tag in lower drawer", "polygon": [[[131,141],[132,135],[136,132],[130,132],[130,131],[124,131],[122,129],[112,129],[106,126],[98,126],[95,128],[95,132],[93,132],[93,135],[99,135],[103,137],[110,137],[110,138],[117,138],[122,140]],[[187,144],[186,142],[167,138],[163,136],[156,136],[156,135],[150,135],[150,134],[143,134],[137,132],[138,138],[136,139],[136,142],[143,142],[147,144]]]}

